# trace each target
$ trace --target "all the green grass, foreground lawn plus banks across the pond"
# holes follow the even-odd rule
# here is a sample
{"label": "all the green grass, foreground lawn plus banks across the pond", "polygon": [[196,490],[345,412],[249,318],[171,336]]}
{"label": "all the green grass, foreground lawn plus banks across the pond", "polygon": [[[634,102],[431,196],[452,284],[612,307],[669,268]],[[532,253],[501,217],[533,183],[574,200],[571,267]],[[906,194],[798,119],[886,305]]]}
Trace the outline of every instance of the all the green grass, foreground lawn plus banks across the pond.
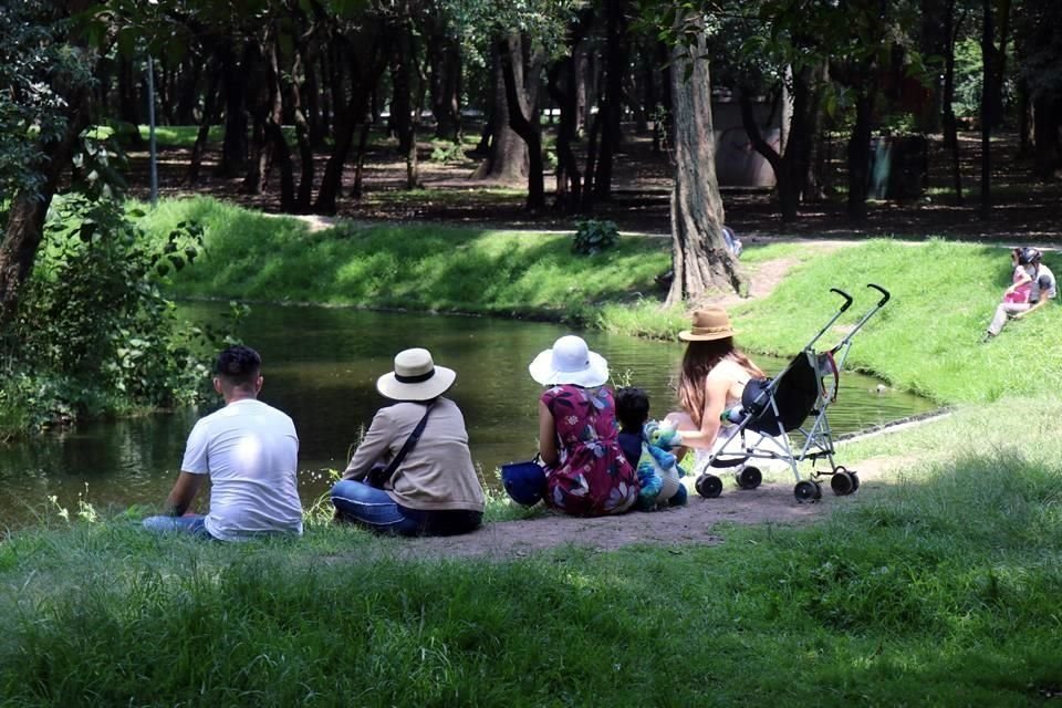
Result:
{"label": "all the green grass, foreground lawn plus banks across the pond", "polygon": [[[668,266],[663,240],[625,238],[577,259],[559,236],[398,225],[311,233],[208,200],[166,202],[149,226],[162,233],[187,217],[208,228],[207,257],[173,285],[187,295],[539,313],[657,336],[684,321],[660,312],[652,290]],[[753,248],[745,262],[792,249]],[[854,497],[827,493],[821,522],[729,524],[723,496],[691,501],[718,504],[705,516],[718,545],[418,560],[396,552],[408,541],[333,527],[320,511],[301,540],[226,545],[148,537],[135,513],[101,520],[87,508],[65,521],[45,509],[41,524],[0,540],[3,705],[1028,706],[1056,696],[1058,305],[982,345],[1009,281],[1002,249],[875,240],[795,257],[770,298],[735,309],[741,342],[798,350],[839,304],[834,287],[856,299],[830,333],[840,336],[876,299],[866,283],[879,283],[893,301],[851,361],[956,404],[946,418],[846,445],[846,464],[885,471]],[[525,516],[490,501],[491,523]]]}

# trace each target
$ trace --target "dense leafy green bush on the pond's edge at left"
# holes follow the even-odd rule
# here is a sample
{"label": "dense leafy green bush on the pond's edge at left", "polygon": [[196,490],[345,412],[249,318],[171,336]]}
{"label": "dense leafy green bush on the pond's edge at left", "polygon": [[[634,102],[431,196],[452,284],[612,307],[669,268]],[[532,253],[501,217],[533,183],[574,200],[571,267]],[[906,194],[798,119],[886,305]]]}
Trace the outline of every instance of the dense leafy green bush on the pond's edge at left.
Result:
{"label": "dense leafy green bush on the pond's edge at left", "polygon": [[[159,279],[190,263],[201,229],[179,223],[160,248],[111,200],[58,197],[15,323],[17,353],[32,377],[60,386],[45,417],[98,415],[125,405],[189,402],[206,371],[174,335]],[[42,388],[42,393],[48,386]]]}

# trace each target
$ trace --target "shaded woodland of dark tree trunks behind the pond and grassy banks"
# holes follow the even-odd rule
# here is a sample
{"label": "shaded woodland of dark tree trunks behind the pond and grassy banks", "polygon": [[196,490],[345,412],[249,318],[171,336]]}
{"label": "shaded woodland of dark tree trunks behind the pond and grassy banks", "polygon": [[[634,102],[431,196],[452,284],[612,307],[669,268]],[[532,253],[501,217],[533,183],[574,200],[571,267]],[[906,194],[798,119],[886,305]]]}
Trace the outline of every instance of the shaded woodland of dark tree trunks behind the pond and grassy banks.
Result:
{"label": "shaded woodland of dark tree trunks behind the pond and grassy banks", "polygon": [[[960,222],[989,223],[993,201],[1053,201],[1040,185],[1060,165],[1052,0],[29,0],[4,13],[0,101],[17,167],[2,179],[13,196],[0,320],[64,175],[98,185],[116,171],[113,160],[85,169],[101,154],[85,147],[100,138],[92,125],[137,156],[133,126],[194,126],[167,189],[287,214],[363,212],[379,164],[410,191],[406,205],[431,184],[426,160],[458,166],[472,210],[475,186],[519,186],[522,209],[496,220],[624,221],[658,211],[660,186],[670,302],[741,288],[720,237],[712,119],[723,104],[770,183],[727,208],[787,231],[814,230],[822,215],[873,230],[882,204],[950,205]],[[23,155],[10,136],[32,125],[44,129]]]}

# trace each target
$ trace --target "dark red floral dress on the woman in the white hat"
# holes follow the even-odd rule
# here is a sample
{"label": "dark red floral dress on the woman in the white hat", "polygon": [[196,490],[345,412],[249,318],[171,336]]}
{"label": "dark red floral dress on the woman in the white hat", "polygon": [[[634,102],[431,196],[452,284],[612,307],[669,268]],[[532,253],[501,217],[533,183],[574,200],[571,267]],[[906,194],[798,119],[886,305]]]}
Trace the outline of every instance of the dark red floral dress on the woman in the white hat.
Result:
{"label": "dark red floral dress on the woman in the white hat", "polygon": [[546,470],[545,502],[576,517],[623,513],[638,498],[638,478],[620,447],[612,391],[566,384],[542,394],[553,414],[560,465]]}

